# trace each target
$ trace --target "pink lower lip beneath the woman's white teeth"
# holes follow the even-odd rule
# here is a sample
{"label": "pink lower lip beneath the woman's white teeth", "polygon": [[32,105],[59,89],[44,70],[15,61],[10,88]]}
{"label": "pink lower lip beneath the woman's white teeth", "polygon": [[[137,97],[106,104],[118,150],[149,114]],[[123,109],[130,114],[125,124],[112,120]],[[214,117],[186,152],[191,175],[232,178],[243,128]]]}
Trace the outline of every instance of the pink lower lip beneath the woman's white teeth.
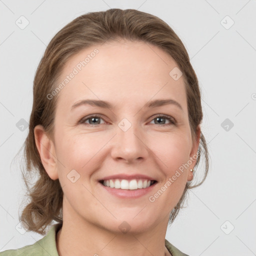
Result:
{"label": "pink lower lip beneath the woman's white teeth", "polygon": [[147,193],[149,193],[154,186],[158,182],[153,183],[152,185],[146,187],[146,188],[138,188],[138,189],[120,189],[120,188],[111,188],[108,186],[104,186],[102,183],[99,182],[99,185],[105,189],[108,193],[117,196],[119,198],[138,198],[141,197]]}

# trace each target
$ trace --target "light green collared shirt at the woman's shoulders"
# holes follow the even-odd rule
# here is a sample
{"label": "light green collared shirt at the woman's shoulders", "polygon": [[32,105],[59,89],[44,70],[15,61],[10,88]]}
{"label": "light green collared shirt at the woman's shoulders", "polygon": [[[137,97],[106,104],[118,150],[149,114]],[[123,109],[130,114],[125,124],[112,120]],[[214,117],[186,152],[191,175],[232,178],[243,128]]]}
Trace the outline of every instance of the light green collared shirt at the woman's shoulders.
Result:
{"label": "light green collared shirt at the woman's shoulders", "polygon": [[[58,256],[56,248],[56,233],[62,223],[57,223],[51,226],[47,234],[33,244],[26,245],[19,249],[9,249],[0,252],[0,256]],[[172,256],[188,256],[182,253],[175,246],[165,239],[165,246]]]}

